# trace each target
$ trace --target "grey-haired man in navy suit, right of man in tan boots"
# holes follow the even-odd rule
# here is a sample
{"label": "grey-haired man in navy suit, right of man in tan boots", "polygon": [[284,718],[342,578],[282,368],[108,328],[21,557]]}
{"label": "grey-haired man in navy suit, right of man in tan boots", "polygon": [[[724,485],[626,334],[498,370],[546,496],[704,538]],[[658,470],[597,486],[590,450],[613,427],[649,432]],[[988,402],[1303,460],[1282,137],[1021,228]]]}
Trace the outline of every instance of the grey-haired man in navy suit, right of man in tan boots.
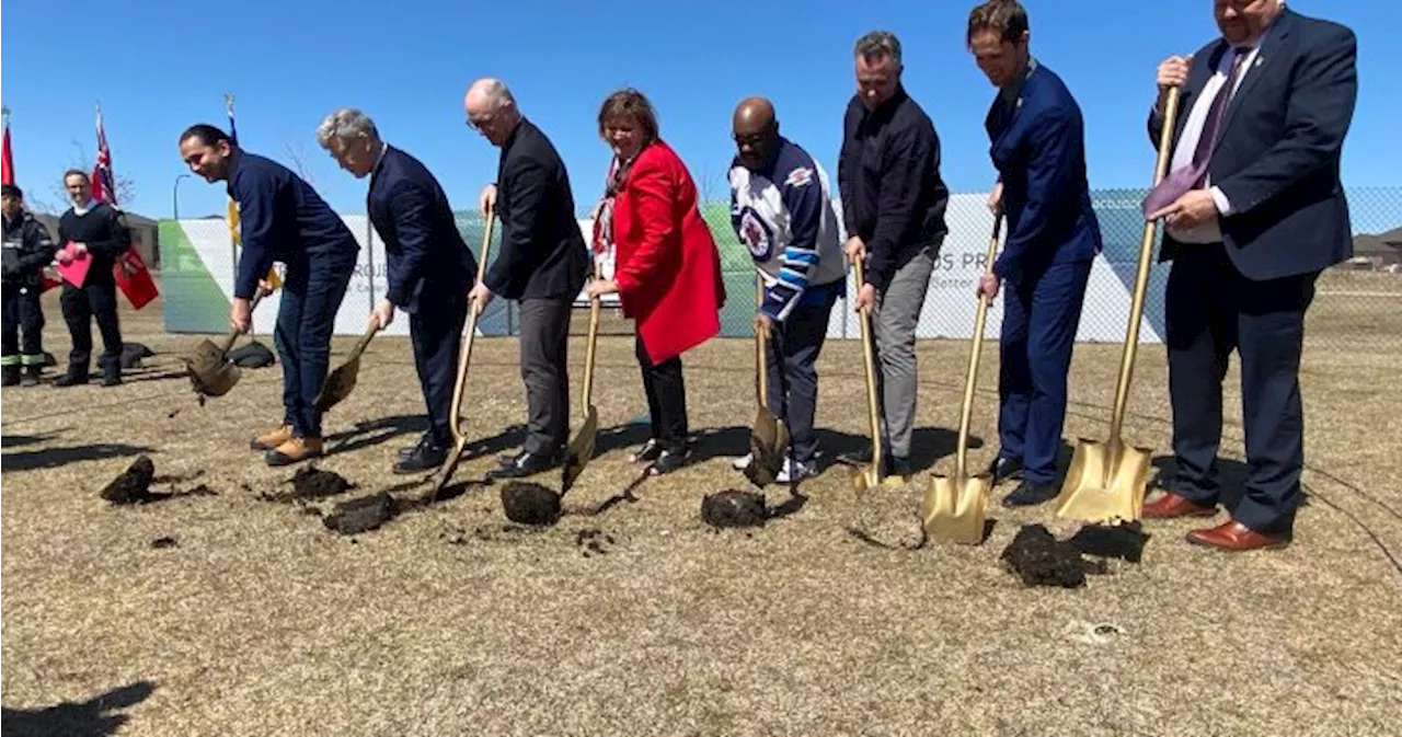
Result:
{"label": "grey-haired man in navy suit, right of man in tan boots", "polygon": [[414,367],[419,373],[429,429],[400,451],[395,474],[443,465],[453,446],[453,384],[467,290],[477,259],[463,241],[453,207],[419,160],[384,143],[366,113],[342,108],[317,128],[317,140],[355,178],[370,177],[366,210],[384,241],[388,290],[372,315],[386,328],[395,308],[409,314]]}

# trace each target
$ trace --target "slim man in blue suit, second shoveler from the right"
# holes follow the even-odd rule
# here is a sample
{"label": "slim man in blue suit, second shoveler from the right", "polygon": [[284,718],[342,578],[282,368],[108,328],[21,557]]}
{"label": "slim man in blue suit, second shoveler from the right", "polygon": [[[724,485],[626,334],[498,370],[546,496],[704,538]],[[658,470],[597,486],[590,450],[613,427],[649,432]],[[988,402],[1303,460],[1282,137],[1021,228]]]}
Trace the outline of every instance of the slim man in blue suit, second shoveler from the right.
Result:
{"label": "slim man in blue suit, second shoveler from the right", "polygon": [[1004,506],[1040,504],[1057,493],[1056,461],[1066,423],[1067,373],[1101,227],[1085,177],[1081,108],[1028,50],[1028,13],[988,0],[969,14],[967,43],[998,88],[984,126],[998,170],[990,206],[1007,217],[1007,241],[979,298],[1002,305],[998,368],[998,457],[994,479],[1021,472]]}

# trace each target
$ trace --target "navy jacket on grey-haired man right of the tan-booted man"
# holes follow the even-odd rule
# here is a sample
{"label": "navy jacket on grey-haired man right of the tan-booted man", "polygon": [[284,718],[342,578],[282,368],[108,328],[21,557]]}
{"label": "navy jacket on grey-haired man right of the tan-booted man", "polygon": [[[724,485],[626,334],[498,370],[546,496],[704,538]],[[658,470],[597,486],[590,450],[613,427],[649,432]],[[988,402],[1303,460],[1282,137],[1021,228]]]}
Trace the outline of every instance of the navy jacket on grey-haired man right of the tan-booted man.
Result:
{"label": "navy jacket on grey-haired man right of the tan-booted man", "polygon": [[370,224],[384,241],[384,298],[408,312],[443,298],[465,297],[477,259],[457,230],[453,207],[418,158],[384,147],[366,193]]}

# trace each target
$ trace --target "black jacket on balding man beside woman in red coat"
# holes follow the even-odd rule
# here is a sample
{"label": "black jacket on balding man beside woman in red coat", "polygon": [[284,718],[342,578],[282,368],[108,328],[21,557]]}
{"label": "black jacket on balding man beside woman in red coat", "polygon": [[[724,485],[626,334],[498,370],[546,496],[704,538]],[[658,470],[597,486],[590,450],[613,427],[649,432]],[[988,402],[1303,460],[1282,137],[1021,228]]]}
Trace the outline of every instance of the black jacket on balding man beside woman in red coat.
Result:
{"label": "black jacket on balding man beside woman in red coat", "polygon": [[501,252],[485,279],[494,294],[512,300],[579,294],[590,258],[575,220],[569,175],[550,139],[524,118],[502,146],[496,214]]}

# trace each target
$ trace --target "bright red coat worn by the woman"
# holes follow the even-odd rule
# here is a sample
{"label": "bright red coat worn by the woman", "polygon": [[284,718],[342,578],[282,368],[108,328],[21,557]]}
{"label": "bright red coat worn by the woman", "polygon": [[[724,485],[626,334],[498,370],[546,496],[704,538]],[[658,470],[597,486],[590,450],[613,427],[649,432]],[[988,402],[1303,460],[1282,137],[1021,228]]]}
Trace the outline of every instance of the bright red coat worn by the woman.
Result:
{"label": "bright red coat worn by the woman", "polygon": [[686,164],[649,143],[613,206],[614,283],[625,317],[638,321],[648,359],[659,364],[721,332],[721,252],[697,207]]}

